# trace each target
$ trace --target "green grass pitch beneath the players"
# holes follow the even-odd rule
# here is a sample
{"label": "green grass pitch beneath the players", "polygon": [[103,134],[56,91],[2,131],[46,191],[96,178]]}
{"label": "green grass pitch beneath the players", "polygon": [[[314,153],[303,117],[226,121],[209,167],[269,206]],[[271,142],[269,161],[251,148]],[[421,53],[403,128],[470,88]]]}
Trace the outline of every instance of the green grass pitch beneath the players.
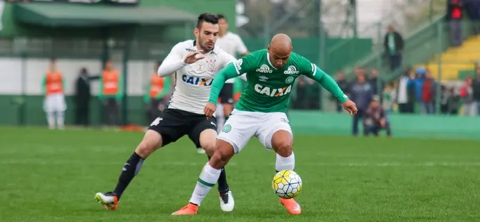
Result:
{"label": "green grass pitch beneath the players", "polygon": [[95,202],[115,186],[142,133],[0,128],[0,221],[480,221],[480,142],[296,136],[302,215],[271,190],[275,155],[255,139],[227,165],[236,206],[216,187],[198,215],[189,200],[207,157],[188,139],[145,161],[115,212]]}

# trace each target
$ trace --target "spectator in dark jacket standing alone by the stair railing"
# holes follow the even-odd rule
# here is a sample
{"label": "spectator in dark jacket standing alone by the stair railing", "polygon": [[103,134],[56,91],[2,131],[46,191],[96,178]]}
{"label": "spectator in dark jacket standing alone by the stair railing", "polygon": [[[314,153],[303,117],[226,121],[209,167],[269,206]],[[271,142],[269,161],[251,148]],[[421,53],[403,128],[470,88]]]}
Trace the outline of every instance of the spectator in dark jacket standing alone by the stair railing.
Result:
{"label": "spectator in dark jacket standing alone by the stair railing", "polygon": [[393,26],[388,26],[385,40],[383,40],[386,56],[390,62],[390,69],[393,71],[401,66],[401,55],[403,52],[403,38],[395,31]]}

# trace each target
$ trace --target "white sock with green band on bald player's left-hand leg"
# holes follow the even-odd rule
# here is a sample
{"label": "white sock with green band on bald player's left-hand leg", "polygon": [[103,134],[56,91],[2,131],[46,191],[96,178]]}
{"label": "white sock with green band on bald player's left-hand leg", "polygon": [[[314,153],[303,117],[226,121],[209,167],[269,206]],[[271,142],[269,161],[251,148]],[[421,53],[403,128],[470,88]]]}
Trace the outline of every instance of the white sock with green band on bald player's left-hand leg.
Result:
{"label": "white sock with green band on bald player's left-hand leg", "polygon": [[208,162],[205,164],[205,167],[203,167],[202,173],[200,173],[200,177],[198,178],[197,185],[195,185],[195,189],[193,190],[190,203],[200,206],[200,203],[202,203],[202,200],[207,196],[211,187],[214,187],[216,184],[221,171],[221,169],[210,167]]}

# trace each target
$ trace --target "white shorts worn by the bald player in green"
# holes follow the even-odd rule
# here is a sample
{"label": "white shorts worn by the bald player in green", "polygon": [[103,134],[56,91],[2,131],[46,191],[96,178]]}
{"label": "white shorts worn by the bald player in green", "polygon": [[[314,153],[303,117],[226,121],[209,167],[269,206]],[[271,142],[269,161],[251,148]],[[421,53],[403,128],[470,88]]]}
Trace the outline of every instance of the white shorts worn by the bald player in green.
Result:
{"label": "white shorts worn by the bald player in green", "polygon": [[235,153],[239,153],[250,138],[255,136],[265,148],[270,150],[273,133],[278,130],[291,133],[289,121],[284,112],[247,112],[234,109],[217,139],[232,144]]}

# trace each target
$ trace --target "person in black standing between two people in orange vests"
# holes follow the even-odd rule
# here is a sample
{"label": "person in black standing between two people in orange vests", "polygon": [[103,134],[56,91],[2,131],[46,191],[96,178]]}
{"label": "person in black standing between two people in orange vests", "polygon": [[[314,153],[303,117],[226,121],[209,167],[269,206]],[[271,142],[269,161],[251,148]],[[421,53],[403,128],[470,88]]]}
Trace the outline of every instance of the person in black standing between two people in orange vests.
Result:
{"label": "person in black standing between two people in orange vests", "polygon": [[88,126],[90,124],[90,80],[99,76],[90,76],[86,68],[80,69],[79,77],[75,81],[75,124]]}

